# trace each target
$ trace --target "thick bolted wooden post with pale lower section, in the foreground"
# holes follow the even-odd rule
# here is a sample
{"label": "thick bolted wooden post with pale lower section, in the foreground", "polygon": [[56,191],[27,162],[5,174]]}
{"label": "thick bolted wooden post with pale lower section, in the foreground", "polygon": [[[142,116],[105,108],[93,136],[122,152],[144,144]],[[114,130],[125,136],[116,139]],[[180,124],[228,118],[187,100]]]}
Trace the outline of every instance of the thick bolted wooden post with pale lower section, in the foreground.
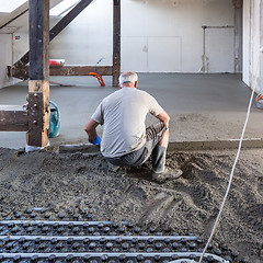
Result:
{"label": "thick bolted wooden post with pale lower section, in the foreground", "polygon": [[30,0],[30,83],[27,145],[48,144],[49,0]]}

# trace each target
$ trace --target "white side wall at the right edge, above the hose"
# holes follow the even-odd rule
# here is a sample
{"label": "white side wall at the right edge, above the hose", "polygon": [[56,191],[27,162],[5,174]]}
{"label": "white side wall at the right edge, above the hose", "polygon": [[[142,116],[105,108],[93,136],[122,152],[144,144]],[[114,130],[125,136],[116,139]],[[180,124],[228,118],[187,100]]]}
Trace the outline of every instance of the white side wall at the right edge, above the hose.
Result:
{"label": "white side wall at the right edge, above the hose", "polygon": [[243,81],[258,93],[263,93],[263,3],[244,1],[243,9]]}

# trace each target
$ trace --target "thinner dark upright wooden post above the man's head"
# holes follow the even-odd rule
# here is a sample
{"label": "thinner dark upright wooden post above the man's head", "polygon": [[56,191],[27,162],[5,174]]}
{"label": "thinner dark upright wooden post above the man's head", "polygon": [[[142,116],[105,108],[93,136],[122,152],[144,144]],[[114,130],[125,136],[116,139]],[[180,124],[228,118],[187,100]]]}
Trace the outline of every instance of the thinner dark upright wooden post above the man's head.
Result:
{"label": "thinner dark upright wooden post above the man's head", "polygon": [[113,87],[118,85],[121,75],[121,0],[113,4]]}

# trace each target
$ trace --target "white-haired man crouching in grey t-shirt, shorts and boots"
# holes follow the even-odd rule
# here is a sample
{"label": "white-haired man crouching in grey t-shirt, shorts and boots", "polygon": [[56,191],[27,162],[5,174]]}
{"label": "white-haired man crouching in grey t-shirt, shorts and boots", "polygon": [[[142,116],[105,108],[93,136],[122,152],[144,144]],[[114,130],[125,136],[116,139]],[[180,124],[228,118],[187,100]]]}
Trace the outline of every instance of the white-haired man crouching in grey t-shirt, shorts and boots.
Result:
{"label": "white-haired man crouching in grey t-shirt, shorts and boots", "polygon": [[[181,170],[165,169],[170,117],[156,99],[137,89],[138,76],[124,72],[119,76],[121,90],[103,99],[85,125],[89,141],[101,145],[106,161],[116,167],[137,167],[152,158],[152,178],[159,182],[176,179]],[[160,122],[146,128],[150,113]],[[104,125],[103,138],[96,126]]]}

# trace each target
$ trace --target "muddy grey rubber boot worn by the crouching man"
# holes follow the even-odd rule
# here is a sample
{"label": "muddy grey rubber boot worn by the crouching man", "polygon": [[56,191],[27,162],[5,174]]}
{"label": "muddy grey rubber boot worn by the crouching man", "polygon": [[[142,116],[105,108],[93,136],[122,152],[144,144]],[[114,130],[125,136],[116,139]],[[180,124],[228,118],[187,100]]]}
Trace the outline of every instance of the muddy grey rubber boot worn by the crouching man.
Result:
{"label": "muddy grey rubber boot worn by the crouching man", "polygon": [[163,146],[157,145],[152,150],[152,169],[151,174],[152,179],[157,182],[164,182],[167,180],[179,179],[183,172],[180,169],[168,170],[165,168],[165,158],[167,158],[167,148]]}

